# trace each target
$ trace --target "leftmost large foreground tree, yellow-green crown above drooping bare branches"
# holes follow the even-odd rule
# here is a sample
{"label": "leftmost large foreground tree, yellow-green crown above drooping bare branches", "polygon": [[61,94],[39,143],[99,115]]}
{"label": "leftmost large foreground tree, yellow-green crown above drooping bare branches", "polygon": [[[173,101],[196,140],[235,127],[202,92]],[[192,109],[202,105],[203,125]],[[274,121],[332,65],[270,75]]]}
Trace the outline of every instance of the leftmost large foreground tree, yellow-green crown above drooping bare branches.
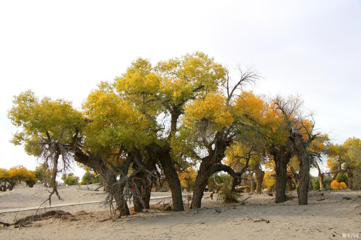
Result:
{"label": "leftmost large foreground tree, yellow-green crown above drooping bare branches", "polygon": [[49,194],[49,204],[53,194],[61,199],[56,176],[69,168],[73,156],[70,150],[85,124],[82,114],[69,101],[48,97],[39,100],[28,90],[14,96],[8,117],[21,129],[13,135],[14,145],[23,144],[27,154],[38,157],[45,166],[52,168],[49,187],[53,190]]}

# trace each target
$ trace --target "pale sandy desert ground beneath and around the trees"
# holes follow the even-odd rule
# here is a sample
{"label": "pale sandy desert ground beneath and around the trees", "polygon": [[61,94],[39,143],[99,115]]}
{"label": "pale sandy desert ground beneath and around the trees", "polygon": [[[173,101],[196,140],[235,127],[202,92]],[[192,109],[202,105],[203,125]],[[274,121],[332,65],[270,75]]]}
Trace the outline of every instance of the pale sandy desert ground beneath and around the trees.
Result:
{"label": "pale sandy desert ground beneath and around the trees", "polygon": [[[89,185],[95,189],[96,185]],[[160,199],[170,201],[168,192],[152,192],[151,209],[122,217],[116,221],[104,221],[109,211],[100,203],[103,192],[87,191],[87,187],[62,187],[63,201],[52,198],[52,205],[63,205],[46,210],[64,210],[74,215],[71,219],[46,219],[20,228],[0,227],[0,239],[361,239],[361,192],[343,190],[309,192],[309,204],[298,205],[296,192],[288,192],[290,200],[275,204],[274,197],[252,194],[246,205],[222,204],[221,213],[216,199],[204,199],[202,208],[183,212],[163,212]],[[186,194],[186,193],[185,193]],[[0,192],[0,220],[12,222],[34,214],[36,210],[6,212],[23,207],[38,208],[47,198],[48,191],[41,185],[34,188],[16,187],[13,191]],[[205,194],[205,197],[209,196]],[[217,197],[217,195],[215,194]],[[243,194],[242,198],[248,194]],[[215,198],[216,198],[215,197]],[[241,198],[241,199],[242,199]],[[317,199],[325,199],[317,201]],[[187,208],[187,201],[185,207]],[[131,207],[132,205],[130,205]],[[41,211],[44,211],[42,209]],[[265,221],[253,222],[265,219]],[[346,237],[343,237],[345,234]],[[349,235],[348,235],[349,234]]]}

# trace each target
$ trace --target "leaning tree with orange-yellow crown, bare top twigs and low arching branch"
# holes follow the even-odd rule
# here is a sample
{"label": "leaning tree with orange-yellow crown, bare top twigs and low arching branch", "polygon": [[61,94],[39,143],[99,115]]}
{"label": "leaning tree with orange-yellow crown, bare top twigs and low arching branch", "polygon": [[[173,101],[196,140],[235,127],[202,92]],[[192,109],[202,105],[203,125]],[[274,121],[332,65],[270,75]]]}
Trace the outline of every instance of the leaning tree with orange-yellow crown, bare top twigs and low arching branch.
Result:
{"label": "leaning tree with orange-yellow crown, bare top twigs and low arching branch", "polygon": [[179,135],[174,135],[177,145],[187,144],[187,147],[183,148],[186,150],[183,154],[200,163],[191,208],[201,206],[203,189],[213,173],[226,171],[232,174],[232,177],[240,178],[241,174],[222,164],[222,159],[225,157],[226,148],[236,141],[242,128],[244,116],[240,115],[238,110],[242,109],[243,102],[239,92],[242,92],[242,86],[253,83],[260,76],[252,68],[239,70],[240,79],[235,81],[234,85],[225,71],[226,76],[214,84],[217,84],[218,88],[190,102],[184,111]]}

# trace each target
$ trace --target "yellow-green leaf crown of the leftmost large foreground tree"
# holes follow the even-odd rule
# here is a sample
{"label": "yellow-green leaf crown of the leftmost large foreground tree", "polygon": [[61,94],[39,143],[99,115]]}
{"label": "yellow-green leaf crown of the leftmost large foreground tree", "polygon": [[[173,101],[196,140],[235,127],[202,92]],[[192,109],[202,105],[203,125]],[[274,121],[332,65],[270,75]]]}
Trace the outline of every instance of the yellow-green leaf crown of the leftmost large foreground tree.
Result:
{"label": "yellow-green leaf crown of the leftmost large foreground tree", "polygon": [[28,90],[14,96],[13,104],[8,118],[21,131],[13,135],[12,142],[24,144],[29,155],[41,156],[44,153],[44,145],[39,143],[60,139],[63,143],[71,142],[75,130],[81,130],[85,124],[82,114],[64,99],[44,97],[39,100],[34,92]]}

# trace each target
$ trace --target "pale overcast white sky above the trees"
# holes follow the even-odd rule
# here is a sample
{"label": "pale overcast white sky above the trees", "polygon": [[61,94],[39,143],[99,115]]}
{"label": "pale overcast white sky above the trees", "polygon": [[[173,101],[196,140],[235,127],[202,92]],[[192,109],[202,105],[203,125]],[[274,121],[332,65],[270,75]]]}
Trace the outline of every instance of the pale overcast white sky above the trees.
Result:
{"label": "pale overcast white sky above the trees", "polygon": [[[81,106],[138,57],[202,51],[254,66],[257,94],[299,94],[334,143],[361,138],[361,1],[1,1],[0,168],[36,159],[9,140],[14,95]],[[75,175],[83,172],[75,167]]]}

